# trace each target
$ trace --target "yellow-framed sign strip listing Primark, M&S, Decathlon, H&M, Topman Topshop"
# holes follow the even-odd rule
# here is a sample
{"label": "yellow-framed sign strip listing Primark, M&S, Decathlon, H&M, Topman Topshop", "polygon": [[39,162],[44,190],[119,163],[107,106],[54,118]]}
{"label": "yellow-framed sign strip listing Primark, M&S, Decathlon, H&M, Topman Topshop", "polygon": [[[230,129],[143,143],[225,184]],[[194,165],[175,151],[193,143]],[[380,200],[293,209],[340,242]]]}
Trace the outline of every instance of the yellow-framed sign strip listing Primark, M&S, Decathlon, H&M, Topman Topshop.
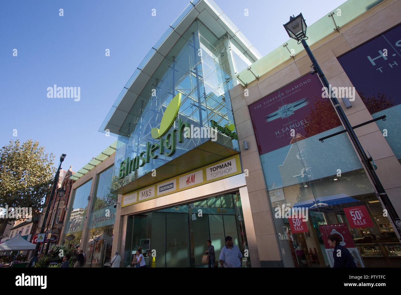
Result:
{"label": "yellow-framed sign strip listing Primark, M&S, Decathlon, H&M, Topman Topshop", "polygon": [[122,207],[242,173],[239,155],[123,195]]}

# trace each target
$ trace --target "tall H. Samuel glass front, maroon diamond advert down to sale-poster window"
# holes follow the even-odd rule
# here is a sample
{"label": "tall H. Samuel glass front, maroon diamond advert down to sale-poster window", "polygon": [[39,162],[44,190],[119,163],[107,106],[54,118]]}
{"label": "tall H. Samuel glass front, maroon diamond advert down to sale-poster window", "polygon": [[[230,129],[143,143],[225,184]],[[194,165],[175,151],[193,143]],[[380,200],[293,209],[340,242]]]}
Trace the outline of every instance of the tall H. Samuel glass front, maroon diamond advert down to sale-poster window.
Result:
{"label": "tall H. Samuel glass front, maroon diamond advert down to sale-poster window", "polygon": [[322,85],[310,74],[249,106],[284,267],[399,267],[401,247]]}

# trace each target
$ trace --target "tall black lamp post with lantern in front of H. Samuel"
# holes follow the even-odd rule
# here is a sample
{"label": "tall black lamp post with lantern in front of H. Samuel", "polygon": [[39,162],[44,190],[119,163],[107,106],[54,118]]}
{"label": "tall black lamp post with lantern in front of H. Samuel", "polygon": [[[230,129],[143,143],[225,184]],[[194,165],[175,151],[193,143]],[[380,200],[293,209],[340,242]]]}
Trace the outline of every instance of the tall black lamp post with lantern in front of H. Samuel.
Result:
{"label": "tall black lamp post with lantern in front of H. Samuel", "polygon": [[[342,110],[340,104],[338,103],[338,100],[336,96],[334,95],[330,84],[328,83],[326,77],[324,76],[324,73],[322,72],[322,69],[320,69],[320,66],[318,62],[316,61],[312,51],[310,50],[308,43],[306,43],[306,22],[304,17],[302,16],[302,13],[300,13],[298,16],[290,16],[290,21],[287,22],[286,24],[283,25],[284,28],[286,29],[288,35],[290,38],[295,39],[299,43],[302,43],[302,45],[305,48],[306,53],[308,54],[310,60],[312,61],[314,70],[316,73],[318,73],[320,81],[323,83],[323,85],[326,87],[328,90],[328,94],[330,97],[331,102],[334,105],[334,108],[337,110],[338,116],[340,117],[340,120],[342,124],[344,125],[346,132],[348,132],[348,135],[351,138],[352,143],[355,146],[356,152],[358,153],[368,175],[369,178],[371,179],[373,185],[375,186],[375,189],[377,191],[377,196],[381,199],[384,207],[386,208],[388,212],[388,217],[390,219],[391,225],[394,228],[395,233],[397,234],[398,239],[400,239],[400,234],[401,234],[401,220],[395,211],[393,204],[391,203],[383,185],[380,182],[379,177],[377,177],[375,170],[373,166],[371,165],[365,151],[363,150],[362,145],[360,144],[358,137],[356,136],[353,127],[351,126],[350,122],[348,121],[348,118],[346,117],[344,110]],[[356,126],[354,126],[355,128]]]}

